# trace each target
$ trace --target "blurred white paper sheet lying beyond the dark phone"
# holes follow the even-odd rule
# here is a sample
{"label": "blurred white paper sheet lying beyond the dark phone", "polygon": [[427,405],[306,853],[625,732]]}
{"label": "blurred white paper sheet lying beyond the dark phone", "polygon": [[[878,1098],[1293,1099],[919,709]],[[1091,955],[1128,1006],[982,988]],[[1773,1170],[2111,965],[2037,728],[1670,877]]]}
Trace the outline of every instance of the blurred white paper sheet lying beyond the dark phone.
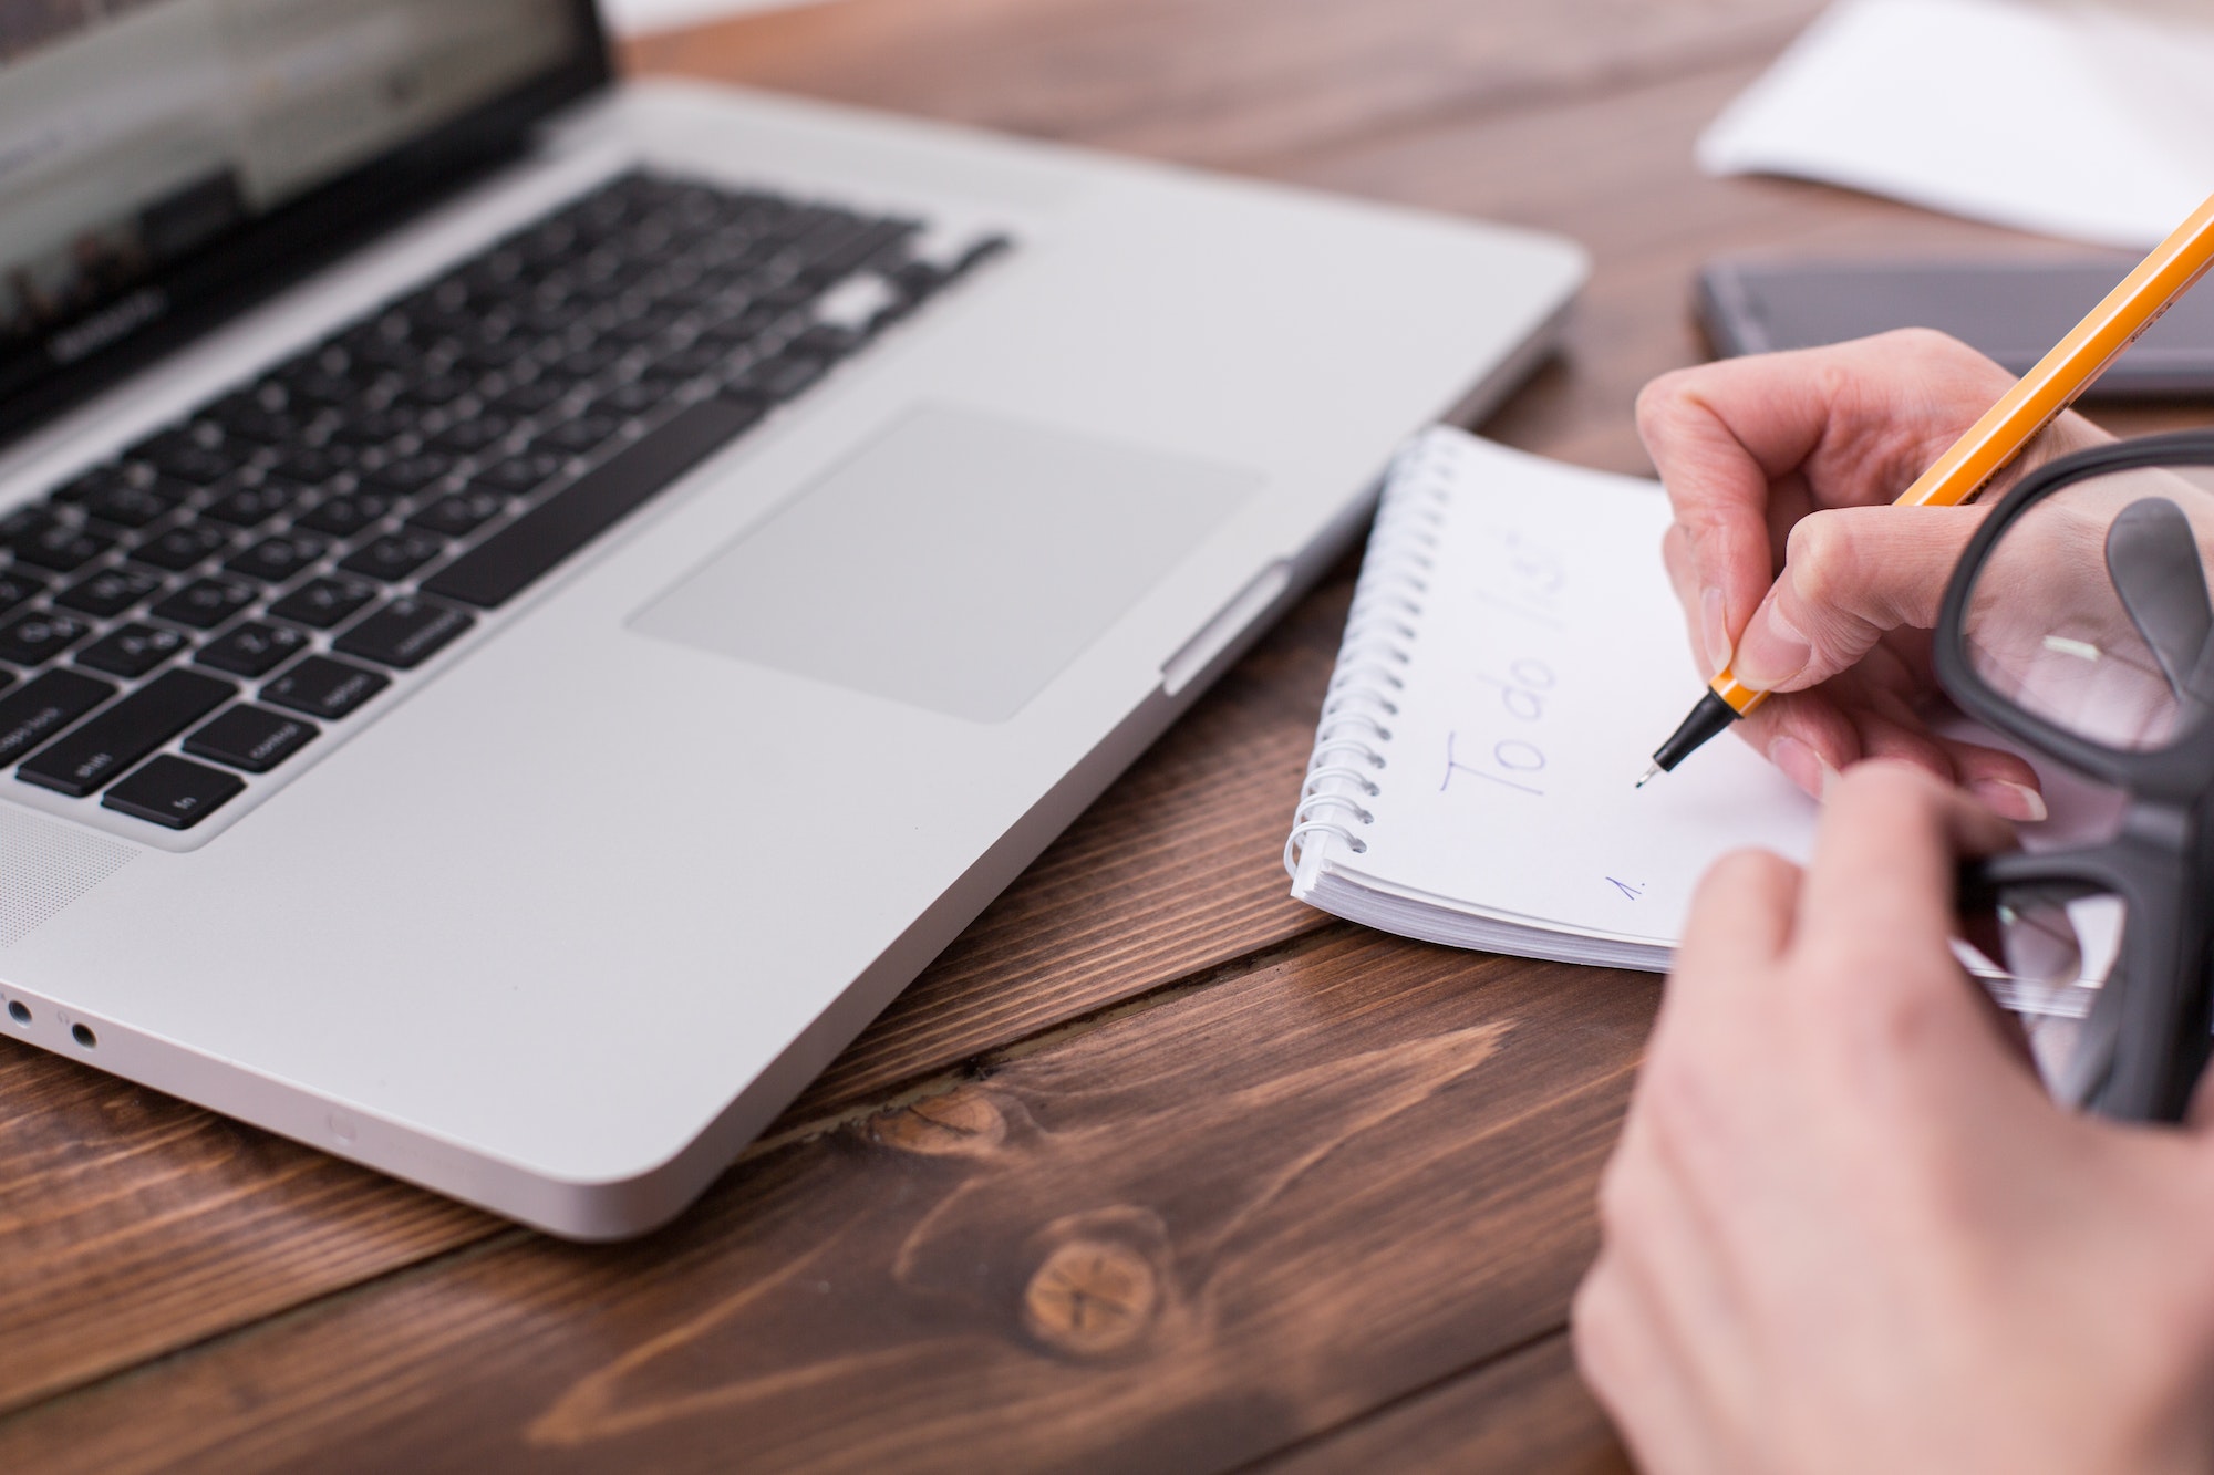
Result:
{"label": "blurred white paper sheet lying beyond the dark phone", "polygon": [[1698,162],[2150,248],[2214,195],[2214,27],[1840,0],[1707,128]]}

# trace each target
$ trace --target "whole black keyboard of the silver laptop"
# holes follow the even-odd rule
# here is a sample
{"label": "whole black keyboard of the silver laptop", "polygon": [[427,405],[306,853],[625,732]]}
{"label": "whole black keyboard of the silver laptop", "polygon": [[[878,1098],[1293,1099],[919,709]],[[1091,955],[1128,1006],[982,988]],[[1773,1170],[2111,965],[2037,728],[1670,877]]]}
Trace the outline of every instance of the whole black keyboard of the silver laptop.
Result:
{"label": "whole black keyboard of the silver laptop", "polygon": [[204,822],[1005,246],[613,179],[0,523],[0,769]]}

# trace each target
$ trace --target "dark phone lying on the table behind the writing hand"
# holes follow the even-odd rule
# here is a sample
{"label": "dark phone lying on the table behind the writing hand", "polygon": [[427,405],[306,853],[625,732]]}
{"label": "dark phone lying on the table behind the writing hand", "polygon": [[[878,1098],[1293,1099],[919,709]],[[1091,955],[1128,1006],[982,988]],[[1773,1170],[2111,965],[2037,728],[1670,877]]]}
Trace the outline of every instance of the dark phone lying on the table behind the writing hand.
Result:
{"label": "dark phone lying on the table behind the writing hand", "polygon": [[[2010,261],[1709,261],[1698,321],[1720,357],[1937,328],[2010,372],[2044,359],[2137,257]],[[2214,399],[2214,281],[2201,281],[2132,343],[2086,399]]]}

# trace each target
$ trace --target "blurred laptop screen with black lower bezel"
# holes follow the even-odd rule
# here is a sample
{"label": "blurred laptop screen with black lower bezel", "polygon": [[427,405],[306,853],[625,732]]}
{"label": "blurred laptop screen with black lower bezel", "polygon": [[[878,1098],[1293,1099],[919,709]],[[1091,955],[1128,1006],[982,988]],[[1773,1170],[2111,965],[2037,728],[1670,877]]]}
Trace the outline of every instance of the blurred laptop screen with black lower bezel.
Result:
{"label": "blurred laptop screen with black lower bezel", "polygon": [[589,0],[0,0],[0,434],[604,73]]}

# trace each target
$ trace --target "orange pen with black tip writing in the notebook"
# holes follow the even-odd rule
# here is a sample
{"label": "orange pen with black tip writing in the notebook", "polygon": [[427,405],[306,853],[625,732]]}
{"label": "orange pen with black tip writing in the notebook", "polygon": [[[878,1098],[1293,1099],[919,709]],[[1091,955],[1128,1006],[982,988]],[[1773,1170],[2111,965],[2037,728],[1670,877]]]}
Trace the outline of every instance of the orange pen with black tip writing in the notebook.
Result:
{"label": "orange pen with black tip writing in the notebook", "polygon": [[[1953,507],[1975,496],[2055,414],[2072,405],[2123,348],[2152,328],[2161,312],[2176,297],[2183,297],[2210,266],[2214,266],[2214,197],[2192,210],[2190,219],[2154,246],[2152,255],[2106,295],[2106,301],[2037,361],[2037,368],[2015,381],[2015,388],[2001,394],[1999,403],[1968,434],[1937,456],[1931,470],[1900,494],[1897,505]],[[1638,788],[1760,706],[1767,695],[1767,691],[1740,684],[1729,667],[1722,667],[1691,715],[1654,753],[1654,766],[1638,780]]]}

